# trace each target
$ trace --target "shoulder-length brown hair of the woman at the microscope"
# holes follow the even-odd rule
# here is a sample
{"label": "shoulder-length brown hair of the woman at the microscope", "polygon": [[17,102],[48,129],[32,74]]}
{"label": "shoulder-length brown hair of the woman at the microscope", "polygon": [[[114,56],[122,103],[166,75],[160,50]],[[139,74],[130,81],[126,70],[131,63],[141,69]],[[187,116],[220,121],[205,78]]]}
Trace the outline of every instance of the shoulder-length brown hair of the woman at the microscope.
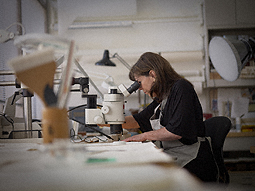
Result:
{"label": "shoulder-length brown hair of the woman at the microscope", "polygon": [[155,93],[159,101],[169,95],[173,84],[177,80],[183,79],[165,58],[152,52],[141,55],[131,68],[129,78],[135,81],[135,76],[149,76],[151,70],[156,73],[156,80],[151,87],[150,96],[153,97],[152,95]]}

